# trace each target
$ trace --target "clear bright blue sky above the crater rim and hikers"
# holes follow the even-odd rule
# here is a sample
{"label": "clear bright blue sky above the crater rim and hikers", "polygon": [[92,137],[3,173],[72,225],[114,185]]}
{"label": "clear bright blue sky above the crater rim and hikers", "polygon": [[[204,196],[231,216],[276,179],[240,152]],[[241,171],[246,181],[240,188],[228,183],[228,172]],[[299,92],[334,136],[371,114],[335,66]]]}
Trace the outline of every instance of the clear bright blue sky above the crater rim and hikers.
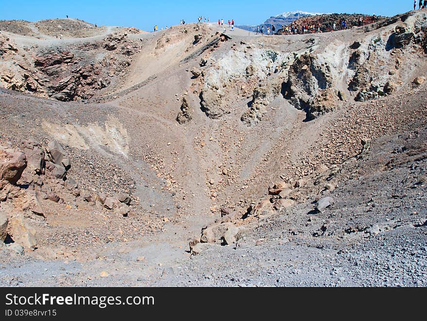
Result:
{"label": "clear bright blue sky above the crater rim and hikers", "polygon": [[151,31],[162,26],[197,21],[198,16],[211,21],[234,19],[236,24],[259,24],[287,11],[364,13],[394,16],[410,11],[413,0],[0,0],[0,20],[79,18],[98,25],[137,27]]}

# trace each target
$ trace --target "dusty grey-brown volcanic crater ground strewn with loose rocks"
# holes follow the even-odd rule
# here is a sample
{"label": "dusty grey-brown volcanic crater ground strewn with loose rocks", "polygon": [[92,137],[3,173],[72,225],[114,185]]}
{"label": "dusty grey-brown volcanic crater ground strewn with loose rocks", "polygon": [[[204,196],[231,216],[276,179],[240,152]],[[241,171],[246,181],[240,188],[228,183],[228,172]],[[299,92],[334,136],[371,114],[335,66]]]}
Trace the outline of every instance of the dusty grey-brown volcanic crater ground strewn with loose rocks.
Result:
{"label": "dusty grey-brown volcanic crater ground strewn with loose rocks", "polygon": [[42,174],[46,218],[0,203],[37,240],[3,245],[0,285],[426,286],[426,11],[270,37],[1,23],[0,143],[57,141],[81,195]]}

